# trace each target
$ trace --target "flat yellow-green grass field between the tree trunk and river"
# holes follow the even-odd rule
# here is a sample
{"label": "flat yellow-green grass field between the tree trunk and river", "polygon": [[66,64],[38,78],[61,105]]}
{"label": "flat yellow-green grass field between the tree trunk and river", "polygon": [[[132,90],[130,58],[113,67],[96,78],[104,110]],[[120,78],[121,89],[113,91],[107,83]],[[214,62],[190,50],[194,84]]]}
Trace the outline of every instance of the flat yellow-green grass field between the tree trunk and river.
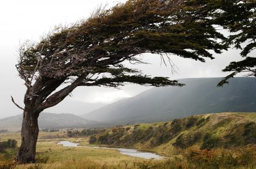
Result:
{"label": "flat yellow-green grass field between the tree trunk and river", "polygon": [[[40,132],[39,140],[36,145],[36,158],[38,161],[43,161],[44,163],[47,160],[47,164],[41,164],[46,168],[52,168],[53,166],[60,166],[63,163],[86,163],[86,161],[93,161],[93,164],[99,165],[124,165],[129,164],[133,165],[133,163],[138,163],[139,161],[148,161],[142,160],[141,158],[131,157],[129,155],[120,154],[118,150],[106,150],[100,148],[90,148],[90,147],[63,147],[62,145],[58,145],[58,140],[69,140],[72,142],[81,142],[83,144],[88,145],[88,138],[58,138],[58,139],[40,139],[42,137],[51,137],[53,135],[65,135],[65,133],[49,133],[49,132]],[[15,139],[18,141],[18,146],[20,145],[20,133],[17,132],[9,132],[9,133],[1,133],[0,141],[6,141],[9,138]],[[6,153],[0,154],[0,164],[10,163],[13,160],[17,152],[17,149],[8,150],[8,157]],[[67,162],[69,161],[69,162]],[[75,161],[75,162],[74,162]],[[90,162],[89,164],[92,164]],[[128,166],[127,164],[127,166]],[[19,165],[16,168],[27,168],[31,165]],[[33,165],[32,165],[33,166]],[[1,168],[1,167],[0,167]]]}

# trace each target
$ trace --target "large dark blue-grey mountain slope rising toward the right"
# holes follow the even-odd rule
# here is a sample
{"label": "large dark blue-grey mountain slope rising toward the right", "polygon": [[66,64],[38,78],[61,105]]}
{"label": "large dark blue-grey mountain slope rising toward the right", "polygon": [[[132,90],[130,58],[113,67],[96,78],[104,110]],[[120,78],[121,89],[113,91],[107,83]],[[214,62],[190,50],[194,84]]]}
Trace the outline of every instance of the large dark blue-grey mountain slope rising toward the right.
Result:
{"label": "large dark blue-grey mountain slope rising toward the right", "polygon": [[256,78],[236,77],[216,87],[221,78],[181,79],[184,87],[149,89],[82,115],[88,120],[127,124],[169,121],[193,114],[256,112]]}

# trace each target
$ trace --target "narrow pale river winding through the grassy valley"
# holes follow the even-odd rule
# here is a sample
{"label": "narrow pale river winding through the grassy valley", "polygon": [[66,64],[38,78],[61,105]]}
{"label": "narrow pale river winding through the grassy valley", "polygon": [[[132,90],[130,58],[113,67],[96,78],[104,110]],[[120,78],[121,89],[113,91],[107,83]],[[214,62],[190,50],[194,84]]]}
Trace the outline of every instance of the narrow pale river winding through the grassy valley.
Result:
{"label": "narrow pale river winding through the grassy valley", "polygon": [[155,153],[142,152],[132,148],[109,148],[109,147],[93,147],[93,146],[78,146],[78,143],[70,142],[70,141],[60,141],[58,144],[63,145],[64,147],[92,147],[92,148],[103,148],[103,149],[111,149],[118,150],[121,154],[130,155],[133,157],[145,158],[145,159],[161,159],[164,158],[161,155],[157,155]]}

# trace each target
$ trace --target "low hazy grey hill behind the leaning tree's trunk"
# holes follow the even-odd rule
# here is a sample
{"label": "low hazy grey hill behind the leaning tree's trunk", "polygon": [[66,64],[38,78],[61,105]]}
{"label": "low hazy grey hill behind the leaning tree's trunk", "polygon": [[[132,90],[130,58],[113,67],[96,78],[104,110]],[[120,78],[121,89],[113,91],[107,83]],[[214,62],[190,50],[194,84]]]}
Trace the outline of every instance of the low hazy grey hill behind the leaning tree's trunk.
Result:
{"label": "low hazy grey hill behind the leaning tree's trunk", "polygon": [[[22,114],[0,119],[0,129],[18,131],[22,125]],[[74,114],[41,113],[38,119],[39,128],[82,128],[100,125],[96,121],[90,121]]]}

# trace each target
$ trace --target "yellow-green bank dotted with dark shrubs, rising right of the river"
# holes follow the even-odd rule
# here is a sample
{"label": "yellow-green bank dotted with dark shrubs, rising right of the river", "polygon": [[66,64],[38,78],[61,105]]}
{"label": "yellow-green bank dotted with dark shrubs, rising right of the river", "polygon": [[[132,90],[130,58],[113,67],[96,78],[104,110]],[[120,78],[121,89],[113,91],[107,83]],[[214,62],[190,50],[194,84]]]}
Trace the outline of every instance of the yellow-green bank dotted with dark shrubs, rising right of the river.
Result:
{"label": "yellow-green bank dotted with dark shrubs, rising right of the river", "polygon": [[96,135],[94,144],[134,147],[166,156],[188,147],[234,148],[256,144],[256,113],[203,114],[154,124],[117,126]]}

